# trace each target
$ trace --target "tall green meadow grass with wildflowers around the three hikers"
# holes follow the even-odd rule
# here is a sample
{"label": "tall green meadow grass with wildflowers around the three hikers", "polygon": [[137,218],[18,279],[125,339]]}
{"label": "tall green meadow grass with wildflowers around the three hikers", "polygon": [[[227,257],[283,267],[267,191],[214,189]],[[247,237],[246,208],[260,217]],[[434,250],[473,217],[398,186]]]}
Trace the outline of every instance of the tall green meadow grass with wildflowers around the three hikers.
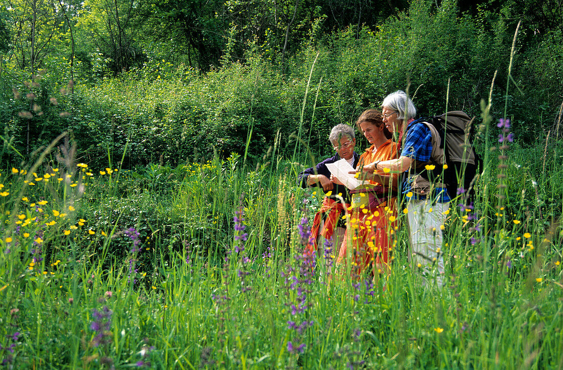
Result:
{"label": "tall green meadow grass with wildflowers around the three hikers", "polygon": [[[512,144],[506,168],[485,163],[475,208],[452,204],[444,287],[409,266],[401,229],[386,291],[328,280],[322,256],[303,275],[297,225],[323,194],[296,188],[299,168],[282,158],[255,170],[233,155],[111,175],[61,164],[36,170],[41,181],[6,169],[0,356],[15,368],[557,368],[563,168],[560,145],[549,145],[549,171],[543,149]],[[236,209],[248,233],[240,253]],[[298,291],[307,298],[293,314]],[[111,315],[95,331],[93,310],[104,307]]]}

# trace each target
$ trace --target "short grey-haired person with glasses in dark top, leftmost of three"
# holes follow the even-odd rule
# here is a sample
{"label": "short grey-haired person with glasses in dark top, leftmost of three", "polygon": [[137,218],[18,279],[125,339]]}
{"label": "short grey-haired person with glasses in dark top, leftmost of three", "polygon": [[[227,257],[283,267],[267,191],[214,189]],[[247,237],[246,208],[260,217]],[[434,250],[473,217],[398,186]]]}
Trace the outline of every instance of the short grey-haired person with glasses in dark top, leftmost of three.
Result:
{"label": "short grey-haired person with glasses in dark top, leftmost of three", "polygon": [[[338,248],[346,231],[346,222],[342,220],[341,216],[343,215],[344,207],[347,207],[346,204],[350,203],[350,193],[348,193],[346,186],[334,184],[334,182],[330,181],[330,171],[327,168],[327,164],[344,158],[352,167],[356,168],[360,158],[358,153],[354,151],[356,139],[354,128],[351,126],[343,123],[337,124],[330,130],[328,139],[336,154],[314,167],[307,168],[297,177],[297,184],[302,188],[320,186],[327,194],[313,221],[311,238],[307,244],[309,252],[316,251],[318,246],[323,245],[323,243],[319,243],[321,237],[330,240],[334,248]],[[342,203],[342,200],[345,203]],[[334,251],[334,253],[338,256],[338,250]]]}

